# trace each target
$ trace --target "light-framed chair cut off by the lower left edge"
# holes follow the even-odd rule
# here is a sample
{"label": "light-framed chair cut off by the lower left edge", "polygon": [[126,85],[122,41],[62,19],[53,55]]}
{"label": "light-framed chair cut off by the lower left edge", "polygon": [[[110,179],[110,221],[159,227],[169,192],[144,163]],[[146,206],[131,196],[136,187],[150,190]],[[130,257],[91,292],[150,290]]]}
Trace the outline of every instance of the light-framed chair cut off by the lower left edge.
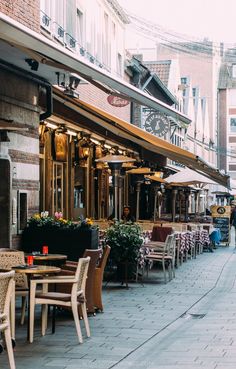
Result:
{"label": "light-framed chair cut off by the lower left edge", "polygon": [[15,369],[9,319],[10,302],[14,294],[14,275],[14,271],[0,273],[0,332],[4,332],[11,369]]}

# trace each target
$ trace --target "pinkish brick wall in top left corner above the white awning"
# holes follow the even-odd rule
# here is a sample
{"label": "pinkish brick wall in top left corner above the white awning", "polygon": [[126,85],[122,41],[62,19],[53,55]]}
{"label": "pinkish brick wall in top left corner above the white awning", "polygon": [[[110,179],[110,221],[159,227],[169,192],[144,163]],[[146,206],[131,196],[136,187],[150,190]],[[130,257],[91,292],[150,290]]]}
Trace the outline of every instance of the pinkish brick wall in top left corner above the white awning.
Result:
{"label": "pinkish brick wall in top left corner above the white awning", "polygon": [[40,32],[40,0],[1,0],[0,12]]}

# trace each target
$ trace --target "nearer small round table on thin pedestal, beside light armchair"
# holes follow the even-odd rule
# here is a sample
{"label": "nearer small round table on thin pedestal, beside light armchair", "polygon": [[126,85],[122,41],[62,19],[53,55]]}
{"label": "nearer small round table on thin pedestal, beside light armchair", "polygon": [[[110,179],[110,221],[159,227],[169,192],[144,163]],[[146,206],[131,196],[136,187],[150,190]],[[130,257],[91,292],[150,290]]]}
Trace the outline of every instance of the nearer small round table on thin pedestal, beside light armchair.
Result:
{"label": "nearer small round table on thin pedestal, beside light armchair", "polygon": [[48,275],[60,273],[61,268],[50,266],[50,265],[32,265],[32,266],[16,266],[12,268],[16,273],[26,274],[29,286],[29,297],[28,297],[28,321],[27,321],[27,340],[29,340],[29,322],[30,322],[30,280],[35,274]]}

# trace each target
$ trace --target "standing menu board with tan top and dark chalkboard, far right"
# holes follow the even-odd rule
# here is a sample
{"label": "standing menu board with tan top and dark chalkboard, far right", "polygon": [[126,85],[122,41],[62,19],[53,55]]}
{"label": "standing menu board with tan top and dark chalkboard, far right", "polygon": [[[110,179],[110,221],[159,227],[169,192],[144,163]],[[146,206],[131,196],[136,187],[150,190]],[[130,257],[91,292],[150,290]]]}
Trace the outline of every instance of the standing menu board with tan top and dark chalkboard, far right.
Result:
{"label": "standing menu board with tan top and dark chalkboard, far right", "polygon": [[211,207],[212,219],[215,228],[219,228],[221,233],[221,242],[230,242],[230,206],[218,206]]}

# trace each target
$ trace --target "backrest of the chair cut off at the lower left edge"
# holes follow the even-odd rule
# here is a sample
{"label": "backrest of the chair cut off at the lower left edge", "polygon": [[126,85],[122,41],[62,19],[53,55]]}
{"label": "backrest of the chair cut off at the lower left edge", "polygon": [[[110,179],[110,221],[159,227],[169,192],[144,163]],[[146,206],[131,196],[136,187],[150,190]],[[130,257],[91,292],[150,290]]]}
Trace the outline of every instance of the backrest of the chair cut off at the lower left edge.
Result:
{"label": "backrest of the chair cut off at the lower left edge", "polygon": [[14,271],[0,273],[0,314],[4,313],[7,316],[14,288],[14,275]]}

